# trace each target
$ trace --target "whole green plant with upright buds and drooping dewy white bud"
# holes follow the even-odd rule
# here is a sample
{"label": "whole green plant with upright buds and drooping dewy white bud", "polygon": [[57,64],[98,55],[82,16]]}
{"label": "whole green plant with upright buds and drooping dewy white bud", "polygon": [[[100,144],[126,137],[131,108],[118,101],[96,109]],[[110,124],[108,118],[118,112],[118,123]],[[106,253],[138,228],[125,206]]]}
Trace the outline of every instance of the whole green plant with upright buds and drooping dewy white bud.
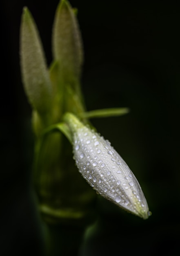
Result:
{"label": "whole green plant with upright buds and drooping dewy white bud", "polygon": [[89,122],[92,117],[126,114],[128,108],[86,111],[80,88],[83,49],[76,12],[69,2],[60,1],[49,68],[27,7],[22,14],[20,64],[24,90],[33,109],[33,181],[42,218],[47,224],[83,229],[94,218],[95,189],[146,219],[149,209],[136,177]]}

